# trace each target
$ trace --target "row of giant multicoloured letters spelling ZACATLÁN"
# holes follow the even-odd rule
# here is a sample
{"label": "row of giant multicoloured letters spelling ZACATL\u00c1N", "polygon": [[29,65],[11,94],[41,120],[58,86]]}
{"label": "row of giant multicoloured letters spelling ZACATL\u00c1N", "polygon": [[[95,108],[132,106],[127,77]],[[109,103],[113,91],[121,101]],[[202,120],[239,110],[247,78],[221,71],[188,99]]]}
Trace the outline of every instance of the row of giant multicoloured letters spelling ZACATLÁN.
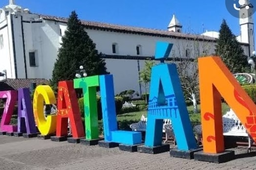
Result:
{"label": "row of giant multicoloured letters spelling ZACATL\u00c1N", "polygon": [[[169,43],[157,43],[156,59],[160,59],[161,63],[152,68],[145,146],[154,148],[162,144],[163,119],[168,118],[171,119],[178,149],[190,151],[196,149],[196,144],[176,65],[163,63],[169,56],[171,47],[172,44]],[[224,152],[221,96],[256,141],[254,102],[219,57],[202,57],[198,61],[203,152],[211,154]],[[43,114],[44,102],[56,103],[50,86],[40,85],[35,89],[33,112],[28,89],[0,92],[0,98],[6,98],[0,131],[35,133],[35,125],[37,125],[42,135],[67,136],[69,118],[73,138],[98,139],[97,87],[100,87],[101,91],[105,141],[125,145],[141,144],[141,132],[120,131],[117,128],[112,75],[89,76],[74,79],[74,82],[59,82],[57,115],[49,115],[46,119]],[[83,89],[84,93],[85,132],[75,95],[77,88]],[[18,126],[9,125],[17,99]]]}

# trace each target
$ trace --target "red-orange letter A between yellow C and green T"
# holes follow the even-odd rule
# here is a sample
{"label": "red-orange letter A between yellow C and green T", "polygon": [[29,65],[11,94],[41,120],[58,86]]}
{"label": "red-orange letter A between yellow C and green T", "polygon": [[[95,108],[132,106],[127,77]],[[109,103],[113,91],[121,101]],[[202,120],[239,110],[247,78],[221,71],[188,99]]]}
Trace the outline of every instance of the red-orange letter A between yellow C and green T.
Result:
{"label": "red-orange letter A between yellow C and green T", "polygon": [[57,137],[67,136],[68,118],[73,138],[85,137],[73,81],[60,81],[58,86]]}

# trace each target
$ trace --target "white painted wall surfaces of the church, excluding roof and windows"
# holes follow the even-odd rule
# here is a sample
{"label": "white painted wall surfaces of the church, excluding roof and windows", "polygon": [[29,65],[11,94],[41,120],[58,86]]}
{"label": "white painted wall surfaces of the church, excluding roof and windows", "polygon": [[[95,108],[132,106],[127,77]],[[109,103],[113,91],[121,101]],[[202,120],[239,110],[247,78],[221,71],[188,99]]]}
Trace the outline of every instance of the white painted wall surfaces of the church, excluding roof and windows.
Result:
{"label": "white painted wall surfaces of the church, excluding roof and windows", "polygon": [[[35,21],[38,19],[38,16],[34,14],[22,14],[22,16],[23,20],[27,21]],[[8,18],[7,21],[9,25],[10,18]],[[24,78],[25,67],[21,36],[21,17],[14,17],[13,23],[15,28],[16,56],[17,62],[19,63],[17,66],[18,78]],[[6,30],[2,30],[4,35],[8,37],[5,43],[9,43],[9,48],[0,51],[0,55],[3,55],[5,58],[4,64],[0,63],[0,69],[6,67],[8,77],[15,78],[12,42],[9,41],[12,37],[11,34],[7,34],[7,31],[11,33],[8,29],[6,27]],[[60,47],[61,32],[62,35],[64,35],[65,29],[66,24],[50,20],[43,20],[42,23],[23,22],[28,78],[51,78],[54,62],[56,61],[58,49]],[[196,42],[186,39],[161,38],[90,29],[86,29],[86,32],[94,43],[96,43],[97,50],[106,55],[137,56],[136,46],[141,45],[142,54],[139,56],[152,57],[155,53],[156,41],[167,41],[174,44],[170,57],[185,57],[187,48],[190,49],[190,57],[192,58],[197,57],[198,54],[201,55],[203,52],[213,54],[215,48],[215,43],[213,42]],[[112,53],[112,43],[118,44],[118,54]],[[197,48],[199,49],[198,52],[195,50]],[[245,50],[245,54],[248,55],[248,47],[243,48]],[[29,52],[33,51],[36,51],[37,67],[30,67],[29,65]],[[8,52],[10,52],[9,55],[7,54]],[[108,71],[114,76],[116,94],[129,89],[139,92],[137,60],[106,59],[106,62]],[[140,60],[141,70],[144,67],[144,62],[144,60]],[[144,92],[145,89],[142,86],[142,93]]]}

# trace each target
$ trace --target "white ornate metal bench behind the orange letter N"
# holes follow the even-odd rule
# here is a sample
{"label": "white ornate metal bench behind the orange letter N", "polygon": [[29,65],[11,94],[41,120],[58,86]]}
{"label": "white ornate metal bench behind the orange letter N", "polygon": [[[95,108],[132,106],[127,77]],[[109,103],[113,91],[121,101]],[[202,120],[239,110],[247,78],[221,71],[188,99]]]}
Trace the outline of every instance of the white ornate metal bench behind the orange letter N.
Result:
{"label": "white ornate metal bench behind the orange letter N", "polygon": [[[242,125],[241,121],[235,115],[234,111],[230,109],[229,112],[222,116],[223,124],[223,135],[224,136],[242,136],[248,137],[248,150],[251,151],[251,146],[254,140],[247,133],[245,127]],[[199,139],[202,138],[202,126],[196,125],[194,128],[195,135],[197,137],[197,145],[199,144]]]}

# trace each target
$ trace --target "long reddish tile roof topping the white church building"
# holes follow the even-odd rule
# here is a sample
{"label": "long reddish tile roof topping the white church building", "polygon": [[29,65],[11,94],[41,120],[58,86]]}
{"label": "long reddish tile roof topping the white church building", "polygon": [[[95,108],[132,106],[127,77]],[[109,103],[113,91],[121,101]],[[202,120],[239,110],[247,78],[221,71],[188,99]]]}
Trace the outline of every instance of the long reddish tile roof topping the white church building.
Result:
{"label": "long reddish tile roof topping the white church building", "polygon": [[[63,23],[67,23],[67,20],[68,20],[68,18],[62,18],[62,17],[56,17],[56,16],[49,16],[49,15],[42,15],[42,14],[37,14],[37,15],[39,15],[40,18],[43,18],[45,20],[53,20],[53,21],[58,21]],[[184,38],[184,39],[195,38],[198,40],[206,40],[206,41],[213,41],[213,42],[216,41],[216,38],[203,36],[203,35],[185,34],[185,33],[171,32],[171,31],[165,31],[165,30],[116,25],[116,24],[109,24],[109,23],[96,22],[96,21],[81,20],[81,24],[84,25],[85,28],[102,29],[106,31],[110,30],[115,32],[141,34],[141,35],[147,35],[147,36]],[[248,45],[248,43],[240,43],[240,44]]]}

